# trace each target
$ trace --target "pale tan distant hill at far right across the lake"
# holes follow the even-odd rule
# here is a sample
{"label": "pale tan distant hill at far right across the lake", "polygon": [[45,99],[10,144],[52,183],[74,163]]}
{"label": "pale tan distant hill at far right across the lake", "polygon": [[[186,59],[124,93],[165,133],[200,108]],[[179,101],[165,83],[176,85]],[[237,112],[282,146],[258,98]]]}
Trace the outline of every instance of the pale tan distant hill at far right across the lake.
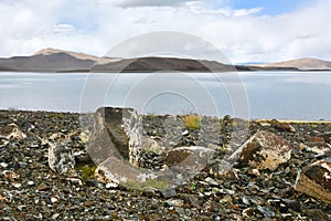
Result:
{"label": "pale tan distant hill at far right across the lake", "polygon": [[260,67],[295,67],[301,71],[323,71],[331,70],[331,62],[317,59],[297,59],[285,62],[258,65]]}

